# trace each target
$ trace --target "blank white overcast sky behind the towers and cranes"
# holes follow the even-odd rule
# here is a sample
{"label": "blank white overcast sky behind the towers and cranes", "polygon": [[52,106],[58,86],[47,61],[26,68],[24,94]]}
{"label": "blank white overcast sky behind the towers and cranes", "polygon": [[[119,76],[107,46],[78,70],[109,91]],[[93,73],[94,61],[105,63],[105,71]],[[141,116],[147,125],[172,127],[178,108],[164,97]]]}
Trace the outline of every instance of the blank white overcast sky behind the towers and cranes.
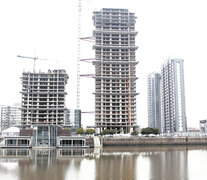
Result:
{"label": "blank white overcast sky behind the towers and cranes", "polygon": [[[147,75],[159,72],[168,58],[184,59],[188,127],[207,118],[207,11],[205,0],[82,0],[81,37],[93,35],[92,15],[101,8],[127,8],[137,16],[137,124],[147,126]],[[0,1],[0,105],[21,103],[21,74],[65,69],[69,74],[66,106],[76,108],[77,0]],[[93,58],[93,43],[81,41],[81,59]],[[94,74],[81,62],[80,74]],[[94,79],[81,77],[80,108],[94,111]],[[94,114],[82,114],[83,126],[94,125]]]}

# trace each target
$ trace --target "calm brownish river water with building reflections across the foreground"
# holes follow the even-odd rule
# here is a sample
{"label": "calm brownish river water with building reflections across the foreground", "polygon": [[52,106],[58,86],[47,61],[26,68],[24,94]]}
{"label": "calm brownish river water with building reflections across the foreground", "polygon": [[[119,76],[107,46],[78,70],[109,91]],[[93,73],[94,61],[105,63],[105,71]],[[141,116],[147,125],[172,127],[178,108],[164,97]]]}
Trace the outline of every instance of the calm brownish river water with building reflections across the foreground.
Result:
{"label": "calm brownish river water with building reflections across the foreground", "polygon": [[0,180],[205,180],[207,146],[0,149]]}

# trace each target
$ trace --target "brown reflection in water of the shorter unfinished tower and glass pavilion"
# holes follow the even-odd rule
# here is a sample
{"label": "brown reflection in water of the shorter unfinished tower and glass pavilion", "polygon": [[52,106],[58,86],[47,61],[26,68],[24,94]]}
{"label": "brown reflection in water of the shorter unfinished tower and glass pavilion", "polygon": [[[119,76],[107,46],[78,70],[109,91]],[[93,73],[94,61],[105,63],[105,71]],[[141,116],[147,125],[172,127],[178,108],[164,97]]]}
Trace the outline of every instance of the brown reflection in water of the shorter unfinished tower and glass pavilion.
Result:
{"label": "brown reflection in water of the shorter unfinished tower and glass pavilion", "polygon": [[64,180],[71,159],[57,159],[56,150],[32,150],[29,160],[19,160],[19,179]]}

